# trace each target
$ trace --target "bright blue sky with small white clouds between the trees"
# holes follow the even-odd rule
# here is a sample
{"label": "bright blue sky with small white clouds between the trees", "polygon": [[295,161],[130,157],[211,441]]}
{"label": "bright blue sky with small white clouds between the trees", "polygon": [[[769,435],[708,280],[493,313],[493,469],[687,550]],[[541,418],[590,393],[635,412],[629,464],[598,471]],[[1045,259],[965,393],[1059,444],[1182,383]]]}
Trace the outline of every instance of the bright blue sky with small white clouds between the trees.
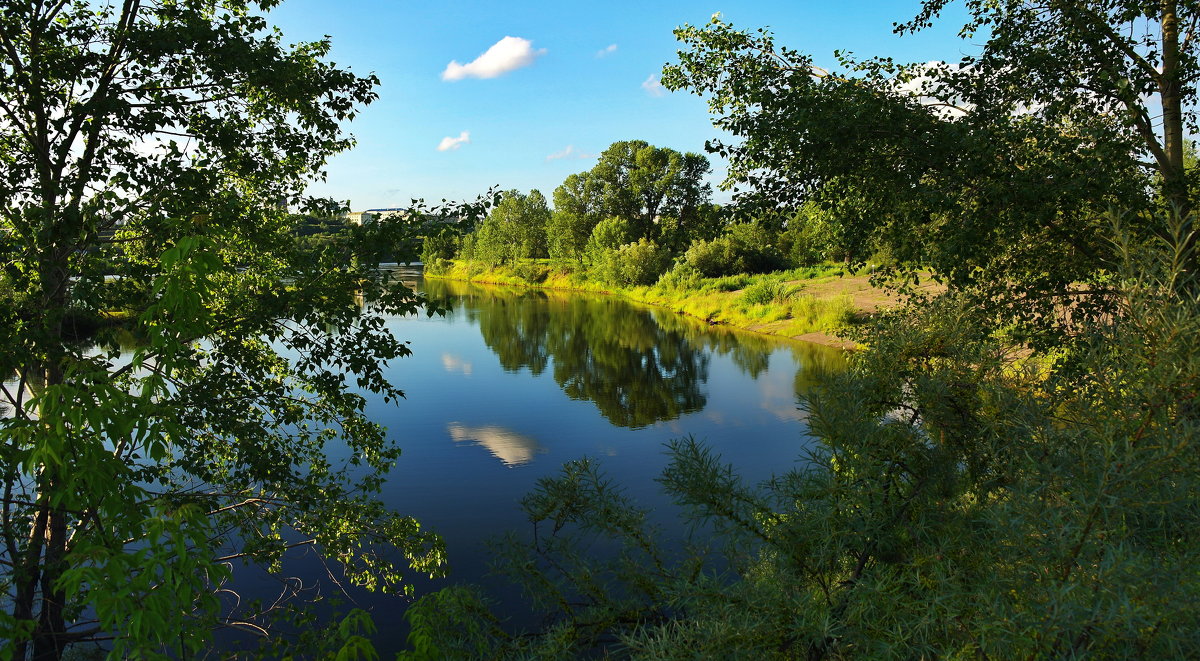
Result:
{"label": "bright blue sky with small white clouds between the trees", "polygon": [[[900,61],[973,50],[956,36],[958,11],[917,36],[893,35],[892,24],[917,8],[900,0],[288,0],[268,18],[288,42],[330,35],[335,62],[382,80],[379,100],[349,125],[358,146],[310,190],[362,210],[474,198],[490,186],[548,198],[616,140],[702,152],[716,136],[704,101],[654,82],[674,60],[672,29],[714,12],[738,28],[769,26],[776,43],[817,64],[839,48]],[[515,68],[475,77],[505,65]],[[715,188],[721,163],[714,170]]]}

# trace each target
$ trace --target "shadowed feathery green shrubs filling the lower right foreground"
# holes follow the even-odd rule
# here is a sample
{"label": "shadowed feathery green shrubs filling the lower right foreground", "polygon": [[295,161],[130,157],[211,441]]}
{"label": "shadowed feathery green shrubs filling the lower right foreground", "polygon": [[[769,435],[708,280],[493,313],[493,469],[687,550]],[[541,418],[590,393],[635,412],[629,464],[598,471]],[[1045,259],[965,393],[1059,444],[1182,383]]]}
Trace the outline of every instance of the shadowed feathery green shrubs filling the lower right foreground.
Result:
{"label": "shadowed feathery green shrubs filling the lower right foreground", "polygon": [[1190,240],[1115,252],[1111,314],[1030,354],[961,294],[882,318],[808,402],[815,450],[767,483],[683,439],[668,551],[592,461],[544,480],[503,570],[409,612],[407,659],[1182,659],[1200,654],[1200,300]]}

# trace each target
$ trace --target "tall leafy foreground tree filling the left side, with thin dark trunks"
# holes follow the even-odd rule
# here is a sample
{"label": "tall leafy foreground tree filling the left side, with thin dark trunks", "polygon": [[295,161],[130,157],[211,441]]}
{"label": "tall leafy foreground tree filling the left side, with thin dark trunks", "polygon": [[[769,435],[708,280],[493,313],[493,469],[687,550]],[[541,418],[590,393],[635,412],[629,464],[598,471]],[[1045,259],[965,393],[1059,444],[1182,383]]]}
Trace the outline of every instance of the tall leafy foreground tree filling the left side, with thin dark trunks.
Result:
{"label": "tall leafy foreground tree filling the left side, with thin dark trunks", "polygon": [[0,12],[6,657],[192,655],[248,617],[217,599],[234,567],[296,545],[371,589],[440,571],[374,497],[398,450],[350,389],[402,396],[382,314],[420,299],[371,268],[398,228],[300,250],[284,210],[337,212],[302,191],[378,82],[284,47],[275,4]]}

